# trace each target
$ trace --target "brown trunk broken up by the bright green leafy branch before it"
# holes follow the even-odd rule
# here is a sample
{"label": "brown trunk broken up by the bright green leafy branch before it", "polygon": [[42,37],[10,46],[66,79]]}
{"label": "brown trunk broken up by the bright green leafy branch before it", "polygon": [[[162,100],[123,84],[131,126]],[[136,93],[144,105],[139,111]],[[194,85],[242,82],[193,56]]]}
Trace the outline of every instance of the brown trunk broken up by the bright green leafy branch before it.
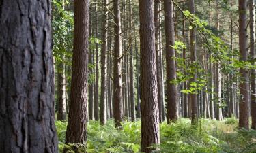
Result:
{"label": "brown trunk broken up by the bright green leafy branch before it", "polygon": [[[195,14],[194,0],[190,0],[189,10],[191,14]],[[191,63],[197,62],[197,47],[196,47],[196,30],[195,28],[190,30],[190,61]],[[197,82],[197,72],[194,73],[191,82]],[[191,123],[198,124],[198,110],[197,110],[197,94],[190,94],[191,98]]]}

